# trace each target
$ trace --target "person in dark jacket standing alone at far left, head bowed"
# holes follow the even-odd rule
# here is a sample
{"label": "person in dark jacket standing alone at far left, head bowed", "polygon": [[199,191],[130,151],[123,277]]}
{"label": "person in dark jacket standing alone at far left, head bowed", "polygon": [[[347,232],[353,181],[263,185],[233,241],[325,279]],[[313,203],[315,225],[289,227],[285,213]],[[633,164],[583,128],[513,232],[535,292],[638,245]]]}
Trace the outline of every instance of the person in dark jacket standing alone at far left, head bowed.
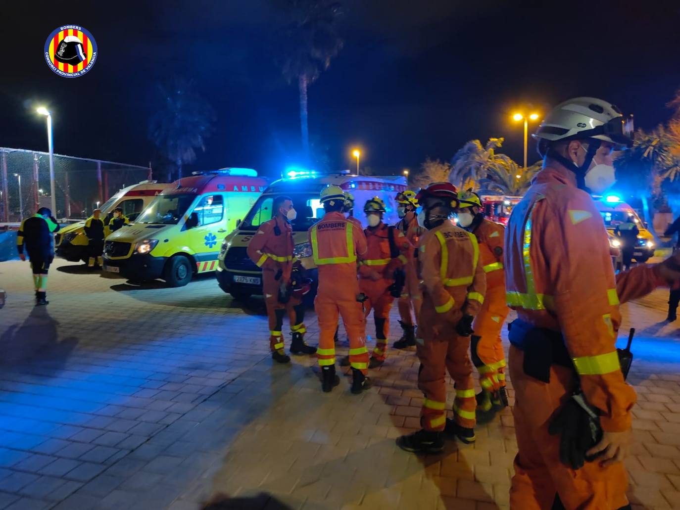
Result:
{"label": "person in dark jacket standing alone at far left, head bowed", "polygon": [[[35,288],[35,305],[47,305],[47,274],[54,260],[54,233],[59,224],[52,218],[52,211],[41,207],[37,213],[21,222],[16,235],[16,249],[19,258],[26,260],[28,254],[33,271],[33,287]],[[24,253],[25,250],[25,253]]]}

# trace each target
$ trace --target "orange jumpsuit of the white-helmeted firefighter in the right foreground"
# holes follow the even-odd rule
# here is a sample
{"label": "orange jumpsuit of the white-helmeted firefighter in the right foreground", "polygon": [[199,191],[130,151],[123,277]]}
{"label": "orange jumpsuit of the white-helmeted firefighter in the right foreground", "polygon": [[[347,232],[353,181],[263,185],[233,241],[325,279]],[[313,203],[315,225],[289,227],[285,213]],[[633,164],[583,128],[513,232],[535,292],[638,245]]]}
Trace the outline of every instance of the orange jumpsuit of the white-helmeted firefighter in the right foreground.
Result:
{"label": "orange jumpsuit of the white-helmeted firefighter in the right foreground", "polygon": [[[566,509],[619,509],[628,504],[624,464],[586,462],[574,471],[560,462],[560,437],[551,436],[552,415],[578,380],[588,402],[600,409],[606,431],[630,428],[635,392],[626,384],[615,350],[619,301],[662,284],[653,267],[614,277],[607,232],[590,195],[573,173],[551,163],[517,204],[505,238],[507,303],[517,316],[561,332],[574,369],[552,364],[548,383],[524,373],[524,352],[510,347],[519,453],[510,507],[550,509],[556,493]],[[578,375],[578,377],[576,377]]]}

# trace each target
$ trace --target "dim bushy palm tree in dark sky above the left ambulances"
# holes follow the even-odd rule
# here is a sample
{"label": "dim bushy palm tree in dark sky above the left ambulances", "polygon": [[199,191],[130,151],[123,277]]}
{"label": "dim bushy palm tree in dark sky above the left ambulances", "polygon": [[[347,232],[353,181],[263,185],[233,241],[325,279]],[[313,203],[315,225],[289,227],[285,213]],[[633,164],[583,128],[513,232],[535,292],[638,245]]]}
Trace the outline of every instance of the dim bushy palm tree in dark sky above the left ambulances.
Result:
{"label": "dim bushy palm tree in dark sky above the left ambulances", "polygon": [[194,92],[192,80],[177,76],[158,85],[157,101],[159,106],[150,118],[148,136],[158,152],[175,165],[180,178],[182,167],[196,160],[196,150],[205,152],[215,112]]}

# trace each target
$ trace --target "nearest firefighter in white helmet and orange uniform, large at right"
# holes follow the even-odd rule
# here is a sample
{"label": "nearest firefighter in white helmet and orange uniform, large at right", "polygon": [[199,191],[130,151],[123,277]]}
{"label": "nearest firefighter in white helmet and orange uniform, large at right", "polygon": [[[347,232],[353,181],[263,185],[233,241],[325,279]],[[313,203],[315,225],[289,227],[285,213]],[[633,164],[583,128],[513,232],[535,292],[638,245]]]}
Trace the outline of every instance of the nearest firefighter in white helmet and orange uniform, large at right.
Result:
{"label": "nearest firefighter in white helmet and orange uniform, large at right", "polygon": [[[513,509],[630,509],[620,461],[635,392],[615,349],[619,303],[678,276],[677,261],[668,260],[615,278],[607,232],[586,191],[613,184],[611,152],[629,147],[632,134],[632,119],[615,106],[579,97],[553,109],[534,135],[543,170],[513,208],[505,239],[507,303],[518,317],[508,365],[519,446]],[[599,438],[583,402],[599,414]]]}

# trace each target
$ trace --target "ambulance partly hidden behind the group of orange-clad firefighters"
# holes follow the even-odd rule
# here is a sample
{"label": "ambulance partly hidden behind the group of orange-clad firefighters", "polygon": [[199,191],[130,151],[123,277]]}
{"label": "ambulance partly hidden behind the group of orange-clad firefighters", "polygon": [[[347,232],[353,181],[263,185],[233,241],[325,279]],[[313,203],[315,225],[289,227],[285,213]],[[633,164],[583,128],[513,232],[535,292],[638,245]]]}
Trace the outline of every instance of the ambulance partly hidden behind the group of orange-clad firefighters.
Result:
{"label": "ambulance partly hidden behind the group of orange-clad firefighters", "polygon": [[[379,175],[368,177],[351,175],[350,171],[320,173],[314,171],[290,171],[285,179],[273,182],[245,215],[238,228],[226,236],[218,257],[217,280],[220,288],[236,299],[247,299],[253,294],[262,295],[262,271],[248,257],[246,249],[260,224],[271,220],[273,201],[286,195],[293,201],[297,218],[292,222],[295,241],[294,256],[308,269],[307,275],[316,282],[316,267],[311,258],[311,245],[307,231],[324,216],[319,194],[329,184],[340,186],[354,195],[353,216],[368,226],[364,215],[364,203],[380,197],[386,204],[384,222],[394,225],[397,192],[407,189],[406,177],[402,175]],[[338,282],[339,285],[342,282]]]}

